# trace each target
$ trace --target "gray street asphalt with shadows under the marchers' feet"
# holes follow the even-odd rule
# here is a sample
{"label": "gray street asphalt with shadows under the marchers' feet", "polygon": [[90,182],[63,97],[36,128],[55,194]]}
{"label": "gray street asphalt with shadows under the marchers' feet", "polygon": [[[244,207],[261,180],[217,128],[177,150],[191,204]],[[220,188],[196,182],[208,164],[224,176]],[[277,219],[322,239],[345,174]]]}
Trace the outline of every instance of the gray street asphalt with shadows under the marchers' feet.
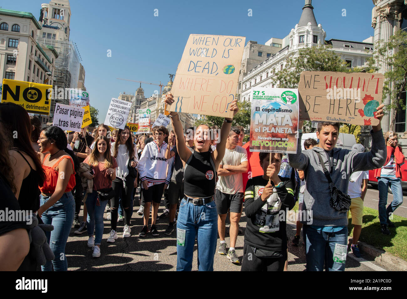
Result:
{"label": "gray street asphalt with shadows under the marchers' feet", "polygon": [[[371,188],[369,186],[369,188]],[[378,192],[374,189],[368,190],[365,197],[365,205],[377,210]],[[388,196],[388,202],[392,201],[392,194]],[[131,220],[131,236],[123,238],[123,222],[118,222],[118,239],[114,243],[107,243],[107,237],[110,233],[110,221],[106,219],[105,212],[105,229],[101,244],[101,257],[92,258],[92,249],[87,247],[88,234],[85,232],[81,235],[74,234],[72,227],[68,243],[66,244],[66,255],[68,259],[69,271],[175,271],[177,265],[177,247],[176,247],[176,229],[171,236],[164,235],[164,230],[168,225],[168,217],[157,221],[157,229],[160,236],[153,237],[147,234],[146,237],[140,238],[138,233],[142,229],[142,217],[136,212],[138,210],[138,195],[135,197],[135,207]],[[161,201],[163,204],[163,201]],[[405,205],[405,203],[403,203]],[[395,214],[406,217],[407,208],[398,208]],[[160,206],[159,215],[164,211]],[[80,219],[83,211],[81,210]],[[151,221],[151,220],[150,220]],[[243,258],[243,239],[246,227],[247,217],[243,214],[240,220],[240,226],[243,234],[239,234],[236,242],[236,253],[240,261]],[[227,229],[228,231],[228,225]],[[363,231],[362,231],[363,234]],[[287,223],[287,236],[289,240],[288,271],[305,271],[305,251],[302,244],[293,246],[291,240],[295,235],[295,223]],[[226,234],[226,243],[230,245],[229,234]],[[218,238],[217,247],[220,241]],[[240,271],[241,266],[232,264],[225,255],[215,254],[214,271]],[[197,245],[194,247],[193,271],[197,271]],[[391,271],[389,266],[379,264],[367,256],[355,258],[352,253],[348,253],[346,259],[346,271]]]}

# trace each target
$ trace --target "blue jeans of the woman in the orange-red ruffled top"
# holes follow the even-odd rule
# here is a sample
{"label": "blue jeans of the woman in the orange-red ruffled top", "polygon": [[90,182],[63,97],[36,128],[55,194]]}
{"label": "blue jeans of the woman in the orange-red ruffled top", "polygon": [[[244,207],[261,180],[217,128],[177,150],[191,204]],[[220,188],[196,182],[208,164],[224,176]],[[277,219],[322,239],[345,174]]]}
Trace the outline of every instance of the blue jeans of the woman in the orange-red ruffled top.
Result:
{"label": "blue jeans of the woman in the orange-red ruffled top", "polygon": [[[41,205],[44,205],[50,197],[41,194]],[[67,271],[68,262],[65,255],[65,245],[71,231],[72,222],[75,213],[75,200],[71,192],[66,192],[62,197],[42,213],[41,219],[44,224],[52,224],[53,231],[46,231],[47,242],[50,244],[51,251],[55,255],[55,260],[48,261],[41,266],[42,271],[51,271],[51,264],[54,271]]]}

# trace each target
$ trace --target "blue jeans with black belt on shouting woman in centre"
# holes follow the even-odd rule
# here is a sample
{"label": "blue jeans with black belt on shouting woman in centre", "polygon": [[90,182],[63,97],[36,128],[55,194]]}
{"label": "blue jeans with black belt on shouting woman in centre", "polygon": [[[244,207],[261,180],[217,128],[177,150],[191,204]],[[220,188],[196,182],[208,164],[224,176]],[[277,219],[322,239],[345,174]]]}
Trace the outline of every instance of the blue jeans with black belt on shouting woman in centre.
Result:
{"label": "blue jeans with black belt on shouting woman in centre", "polygon": [[213,259],[218,237],[218,214],[215,201],[206,205],[193,205],[182,199],[177,220],[179,229],[185,230],[185,246],[177,244],[177,271],[191,271],[195,238],[198,238],[198,269],[213,271]]}

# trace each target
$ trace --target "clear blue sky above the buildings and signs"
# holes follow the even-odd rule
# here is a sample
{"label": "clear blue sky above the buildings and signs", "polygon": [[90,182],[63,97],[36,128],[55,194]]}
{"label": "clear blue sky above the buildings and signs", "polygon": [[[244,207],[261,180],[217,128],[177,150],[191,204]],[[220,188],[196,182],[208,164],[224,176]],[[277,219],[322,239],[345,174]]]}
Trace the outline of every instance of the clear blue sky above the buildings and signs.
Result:
{"label": "clear blue sky above the buildings and signs", "polygon": [[[3,9],[28,11],[39,17],[47,0],[13,0]],[[362,41],[373,35],[371,0],[313,0],[315,19],[326,39]],[[135,93],[139,83],[165,85],[175,74],[191,33],[245,36],[264,44],[284,38],[300,20],[304,0],[107,1],[70,0],[70,39],[76,42],[85,68],[90,104],[105,120],[111,98]],[[154,16],[158,9],[158,16]],[[252,16],[248,16],[252,9]],[[342,10],[346,9],[346,16]],[[107,57],[112,50],[112,57]],[[151,96],[158,86],[142,84]]]}

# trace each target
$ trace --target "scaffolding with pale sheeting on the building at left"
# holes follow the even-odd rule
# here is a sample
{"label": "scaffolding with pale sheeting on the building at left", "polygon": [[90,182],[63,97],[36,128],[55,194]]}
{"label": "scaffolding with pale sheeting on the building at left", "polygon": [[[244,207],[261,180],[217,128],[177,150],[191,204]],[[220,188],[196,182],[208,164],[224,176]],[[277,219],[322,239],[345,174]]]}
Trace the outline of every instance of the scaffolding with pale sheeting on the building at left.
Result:
{"label": "scaffolding with pale sheeting on the building at left", "polygon": [[[70,40],[55,40],[44,37],[37,37],[40,46],[53,46],[58,53],[55,59],[55,73],[53,74],[53,89],[59,92],[63,88],[63,98],[53,94],[51,101],[50,116],[53,117],[56,103],[69,105],[69,93],[65,92],[66,88],[78,88],[79,69],[82,59],[76,44]],[[67,95],[67,96],[66,96]]]}

